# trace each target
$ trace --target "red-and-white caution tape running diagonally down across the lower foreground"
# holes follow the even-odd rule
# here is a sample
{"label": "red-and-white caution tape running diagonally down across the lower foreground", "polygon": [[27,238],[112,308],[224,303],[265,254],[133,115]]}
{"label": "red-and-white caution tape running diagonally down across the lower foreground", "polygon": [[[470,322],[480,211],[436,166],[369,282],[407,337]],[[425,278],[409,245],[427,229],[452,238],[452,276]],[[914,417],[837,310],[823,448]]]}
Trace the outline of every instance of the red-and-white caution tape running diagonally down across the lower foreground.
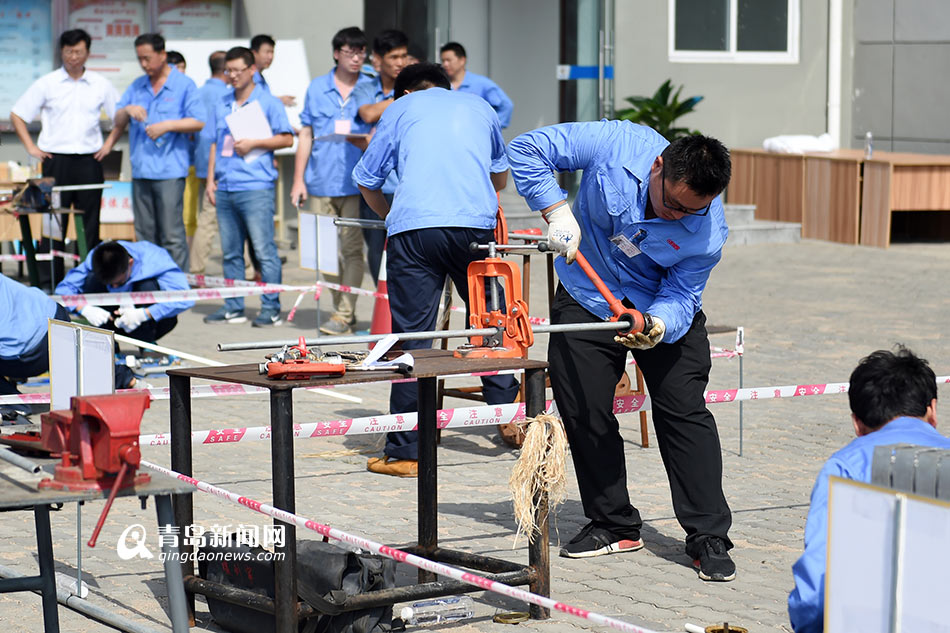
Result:
{"label": "red-and-white caution tape running diagonally down across the lower foreground", "polygon": [[409,552],[404,552],[394,547],[389,547],[388,545],[383,545],[382,543],[377,543],[376,541],[371,541],[361,536],[356,536],[355,534],[350,534],[349,532],[332,528],[329,525],[317,523],[313,519],[308,519],[298,514],[292,514],[290,512],[280,510],[266,503],[255,501],[250,497],[233,493],[218,486],[213,486],[204,481],[195,479],[194,477],[183,475],[145,460],[142,460],[142,465],[150,470],[154,470],[155,472],[168,475],[169,477],[175,477],[180,481],[189,483],[202,492],[214,495],[220,499],[226,499],[231,503],[244,506],[245,508],[250,508],[254,512],[284,521],[285,523],[296,525],[297,527],[305,530],[316,532],[317,534],[327,538],[332,538],[337,541],[344,541],[346,543],[350,543],[351,545],[356,545],[357,547],[367,549],[375,554],[391,558],[400,563],[406,563],[407,565],[412,565],[413,567],[424,569],[426,571],[439,574],[440,576],[454,578],[455,580],[470,584],[474,587],[479,587],[493,593],[515,598],[516,600],[523,600],[524,602],[536,604],[540,607],[551,609],[553,611],[567,613],[568,615],[573,615],[595,624],[609,626],[613,629],[617,629],[618,631],[627,631],[629,633],[654,633],[649,629],[635,626],[629,622],[624,622],[623,620],[617,620],[616,618],[601,615],[593,611],[587,611],[586,609],[581,609],[579,607],[572,607],[570,605],[564,604],[563,602],[558,602],[557,600],[553,600],[551,598],[545,598],[544,596],[539,596],[535,593],[525,591],[524,589],[510,587],[500,582],[489,580],[488,578],[478,574],[462,571],[461,569],[456,569],[455,567],[450,567],[449,565],[445,565],[443,563],[437,563],[426,558],[422,558],[421,556],[416,556],[414,554],[410,554]]}

